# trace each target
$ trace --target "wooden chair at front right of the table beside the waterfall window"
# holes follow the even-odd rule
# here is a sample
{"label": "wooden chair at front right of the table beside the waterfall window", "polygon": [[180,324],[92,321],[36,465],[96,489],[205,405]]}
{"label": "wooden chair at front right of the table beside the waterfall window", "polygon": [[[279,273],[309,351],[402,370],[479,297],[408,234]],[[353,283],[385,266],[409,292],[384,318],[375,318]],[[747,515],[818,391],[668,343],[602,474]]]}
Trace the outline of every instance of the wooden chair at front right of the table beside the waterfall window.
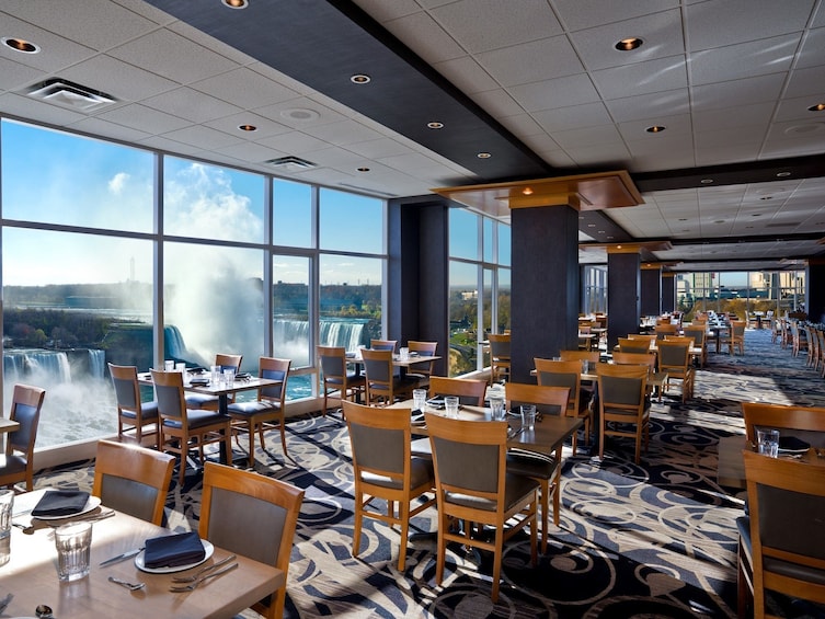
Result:
{"label": "wooden chair at front right of the table beside the waterfall window", "polygon": [[[278,359],[275,357],[261,357],[259,359],[260,378],[279,381],[277,385],[261,387],[257,390],[257,399],[247,402],[233,402],[229,404],[229,416],[238,426],[238,429],[245,429],[249,436],[249,466],[255,465],[255,431],[257,431],[261,440],[261,449],[265,449],[264,427],[266,424],[277,422],[280,431],[280,446],[286,452],[286,429],[284,428],[284,417],[286,412],[286,385],[289,379],[290,359]],[[237,435],[236,435],[237,436]]]}

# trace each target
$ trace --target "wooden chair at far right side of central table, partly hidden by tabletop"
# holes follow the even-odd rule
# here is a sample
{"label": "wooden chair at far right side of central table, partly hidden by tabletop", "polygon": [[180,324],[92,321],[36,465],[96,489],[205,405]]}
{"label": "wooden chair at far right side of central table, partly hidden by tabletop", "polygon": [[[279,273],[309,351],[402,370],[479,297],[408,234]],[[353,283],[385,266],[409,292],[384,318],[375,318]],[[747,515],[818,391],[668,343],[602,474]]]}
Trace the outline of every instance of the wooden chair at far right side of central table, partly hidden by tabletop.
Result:
{"label": "wooden chair at far right side of central table, partly hidden by tabletop", "polygon": [[[564,363],[564,362],[557,362]],[[575,362],[568,362],[575,363]],[[536,404],[536,411],[542,415],[572,414],[568,403],[572,399],[568,387],[548,387],[541,385],[525,385],[508,382],[505,386],[506,406],[514,409],[522,404]],[[539,500],[541,502],[541,552],[547,552],[548,521],[550,515],[550,497],[553,497],[553,524],[559,526],[561,509],[561,460],[562,446],[555,449],[552,457],[527,451],[525,449],[509,449],[507,451],[507,472],[527,475],[539,484]]]}

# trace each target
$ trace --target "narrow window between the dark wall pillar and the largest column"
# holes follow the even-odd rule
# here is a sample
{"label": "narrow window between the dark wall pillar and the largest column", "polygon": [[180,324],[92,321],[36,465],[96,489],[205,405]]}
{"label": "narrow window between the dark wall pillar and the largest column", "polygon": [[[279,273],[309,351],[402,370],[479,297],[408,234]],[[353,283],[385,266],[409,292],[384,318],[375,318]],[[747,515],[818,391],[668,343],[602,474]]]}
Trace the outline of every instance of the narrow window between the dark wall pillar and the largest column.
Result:
{"label": "narrow window between the dark wall pillar and the largest column", "polygon": [[489,333],[509,324],[509,226],[466,209],[449,214],[449,376],[482,369]]}

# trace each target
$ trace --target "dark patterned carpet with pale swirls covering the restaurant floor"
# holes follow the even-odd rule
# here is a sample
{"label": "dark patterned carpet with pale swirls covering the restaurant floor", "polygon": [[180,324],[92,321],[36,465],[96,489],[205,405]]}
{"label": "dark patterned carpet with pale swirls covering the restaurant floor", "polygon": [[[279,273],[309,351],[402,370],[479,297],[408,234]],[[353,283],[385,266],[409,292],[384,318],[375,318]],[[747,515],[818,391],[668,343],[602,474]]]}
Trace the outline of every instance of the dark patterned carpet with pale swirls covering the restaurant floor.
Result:
{"label": "dark patterned carpet with pale swirls covering the restaurant floor", "polygon": [[[436,586],[435,542],[411,542],[397,570],[399,536],[366,520],[362,552],[352,550],[352,468],[343,424],[332,417],[288,424],[291,459],[272,437],[257,449],[260,472],[306,489],[289,571],[286,617],[734,617],[735,518],[742,491],[717,484],[717,445],[743,434],[740,402],[825,405],[823,381],[804,358],[748,330],[744,356],[709,355],[695,398],[678,389],[654,402],[651,444],[641,466],[632,444],[608,444],[604,461],[565,449],[562,511],[548,553],[529,564],[527,538],[505,547],[502,593],[490,601],[489,557],[450,548]],[[238,451],[239,458],[242,452]],[[91,488],[91,463],[43,471],[37,486]],[[169,493],[169,524],[197,526],[199,477]],[[435,512],[413,521],[434,531]],[[781,612],[790,616],[783,607]],[[254,616],[254,615],[251,615]]]}

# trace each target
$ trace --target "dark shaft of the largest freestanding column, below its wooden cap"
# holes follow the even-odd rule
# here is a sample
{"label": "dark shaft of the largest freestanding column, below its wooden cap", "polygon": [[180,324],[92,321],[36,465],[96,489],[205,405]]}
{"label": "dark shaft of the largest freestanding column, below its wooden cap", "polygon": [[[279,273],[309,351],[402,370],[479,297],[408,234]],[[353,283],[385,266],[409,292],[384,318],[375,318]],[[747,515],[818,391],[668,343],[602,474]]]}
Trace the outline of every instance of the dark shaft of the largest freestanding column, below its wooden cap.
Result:
{"label": "dark shaft of the largest freestanding column, below its wooden cap", "polygon": [[512,379],[535,382],[534,357],[578,346],[578,213],[566,205],[511,211]]}

